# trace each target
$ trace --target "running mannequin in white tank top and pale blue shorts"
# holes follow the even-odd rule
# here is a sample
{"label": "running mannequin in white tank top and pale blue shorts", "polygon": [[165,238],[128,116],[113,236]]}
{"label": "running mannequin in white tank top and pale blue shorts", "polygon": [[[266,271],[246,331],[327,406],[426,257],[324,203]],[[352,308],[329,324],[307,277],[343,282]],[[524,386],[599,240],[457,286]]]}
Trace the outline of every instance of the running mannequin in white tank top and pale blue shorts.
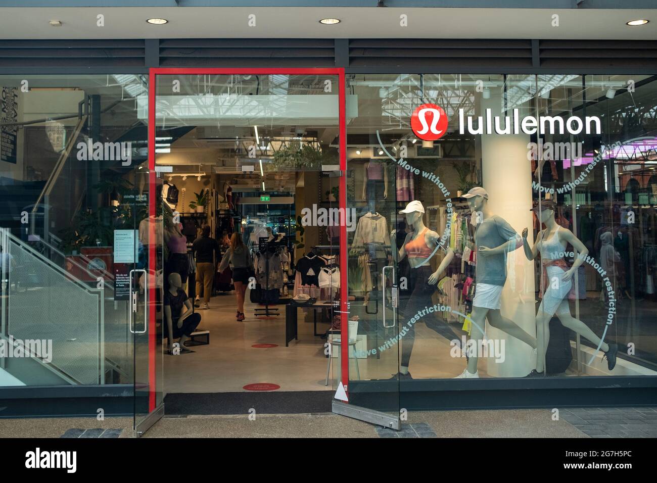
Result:
{"label": "running mannequin in white tank top and pale blue shorts", "polygon": [[[541,265],[547,275],[547,289],[543,294],[543,301],[536,313],[536,369],[533,369],[527,377],[541,377],[545,372],[545,351],[550,340],[550,319],[556,313],[559,321],[564,327],[587,338],[596,346],[600,346],[604,357],[607,359],[607,367],[611,371],[616,365],[616,353],[618,346],[616,344],[606,344],[589,329],[582,321],[575,319],[570,315],[570,306],[568,305],[568,292],[572,287],[572,277],[577,271],[579,265],[583,264],[589,254],[588,248],[573,235],[572,231],[560,227],[555,220],[556,205],[551,200],[541,202],[540,211],[536,204],[532,211],[540,213],[539,220],[545,223],[545,229],[541,230],[536,237],[536,242],[530,248],[527,241],[528,229],[522,231],[522,244],[525,255],[529,260],[536,258],[541,254]],[[578,256],[572,267],[568,267],[564,258],[558,258],[559,252],[566,251],[566,244],[570,243]],[[555,288],[558,287],[558,288]]]}

